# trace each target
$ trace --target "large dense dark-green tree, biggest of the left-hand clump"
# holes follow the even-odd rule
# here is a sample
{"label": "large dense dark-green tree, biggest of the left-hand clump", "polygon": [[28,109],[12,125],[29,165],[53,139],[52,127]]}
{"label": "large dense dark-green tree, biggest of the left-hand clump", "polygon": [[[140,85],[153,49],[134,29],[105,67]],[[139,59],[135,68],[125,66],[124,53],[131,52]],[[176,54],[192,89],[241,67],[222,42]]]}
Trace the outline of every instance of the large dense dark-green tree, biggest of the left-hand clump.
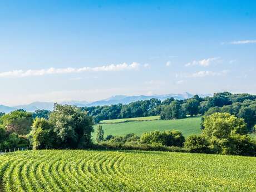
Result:
{"label": "large dense dark-green tree, biggest of the left-hand clump", "polygon": [[93,119],[76,106],[55,104],[50,122],[54,126],[58,147],[83,149],[91,144]]}

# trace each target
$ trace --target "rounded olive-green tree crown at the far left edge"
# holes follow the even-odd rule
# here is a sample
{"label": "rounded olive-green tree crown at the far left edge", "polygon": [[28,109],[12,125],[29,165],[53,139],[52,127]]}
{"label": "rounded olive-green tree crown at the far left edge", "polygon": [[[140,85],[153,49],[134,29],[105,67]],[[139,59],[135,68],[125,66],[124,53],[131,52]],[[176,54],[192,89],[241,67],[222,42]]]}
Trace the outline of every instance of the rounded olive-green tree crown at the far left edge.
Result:
{"label": "rounded olive-green tree crown at the far left edge", "polygon": [[1,117],[1,122],[7,132],[26,135],[31,130],[32,113],[24,110],[13,111]]}

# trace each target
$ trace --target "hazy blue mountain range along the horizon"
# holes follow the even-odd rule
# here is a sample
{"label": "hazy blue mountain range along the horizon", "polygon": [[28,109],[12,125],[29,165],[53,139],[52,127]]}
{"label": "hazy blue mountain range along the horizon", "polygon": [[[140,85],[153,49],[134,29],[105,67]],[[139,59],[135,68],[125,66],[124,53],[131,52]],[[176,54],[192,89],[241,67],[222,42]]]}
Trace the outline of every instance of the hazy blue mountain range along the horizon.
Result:
{"label": "hazy blue mountain range along the horizon", "polygon": [[[199,95],[200,97],[206,97],[206,96],[211,96],[210,94],[208,95]],[[183,99],[189,99],[193,97],[192,94],[185,92],[182,94],[167,94],[167,95],[151,95],[151,96],[146,96],[146,95],[138,95],[138,96],[126,96],[126,95],[116,95],[109,97],[104,100],[99,100],[99,101],[93,101],[93,102],[87,102],[87,101],[65,101],[61,102],[60,104],[62,105],[76,105],[77,107],[85,107],[85,106],[103,106],[103,105],[114,105],[114,104],[129,104],[130,102],[134,101],[140,101],[140,100],[149,100],[152,98],[155,99],[160,99],[161,101],[168,99],[170,97],[174,97],[174,99],[177,100],[183,100]],[[53,105],[54,102],[33,102],[28,105],[17,105],[17,106],[4,106],[0,105],[0,112],[11,112],[17,109],[23,109],[29,112],[33,112],[36,110],[53,110]]]}

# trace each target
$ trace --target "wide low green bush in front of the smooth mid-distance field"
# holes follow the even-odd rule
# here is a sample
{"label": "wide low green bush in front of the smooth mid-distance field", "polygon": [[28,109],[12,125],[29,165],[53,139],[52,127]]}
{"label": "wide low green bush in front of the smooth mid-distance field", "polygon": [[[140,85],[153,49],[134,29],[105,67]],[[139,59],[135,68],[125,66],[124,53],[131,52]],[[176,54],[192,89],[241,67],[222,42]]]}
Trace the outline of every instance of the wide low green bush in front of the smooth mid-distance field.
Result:
{"label": "wide low green bush in front of the smooth mid-distance field", "polygon": [[154,144],[163,146],[183,146],[185,141],[181,132],[176,130],[171,131],[152,131],[141,135],[140,142],[142,144]]}

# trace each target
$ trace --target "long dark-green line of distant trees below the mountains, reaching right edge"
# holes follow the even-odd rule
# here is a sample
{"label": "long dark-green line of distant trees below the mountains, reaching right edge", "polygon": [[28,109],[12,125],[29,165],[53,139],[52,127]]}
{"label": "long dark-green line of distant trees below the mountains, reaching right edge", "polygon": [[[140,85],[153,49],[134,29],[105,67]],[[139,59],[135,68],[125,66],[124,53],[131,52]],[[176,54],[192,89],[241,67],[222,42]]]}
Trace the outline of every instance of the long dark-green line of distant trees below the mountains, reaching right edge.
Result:
{"label": "long dark-green line of distant trees below the mountains, reaching right edge", "polygon": [[243,118],[247,124],[248,132],[253,132],[256,124],[256,95],[221,92],[205,98],[195,95],[185,100],[169,98],[160,101],[151,99],[131,102],[127,105],[82,107],[82,110],[93,116],[96,123],[101,120],[155,115],[160,115],[162,120],[183,119],[188,116],[208,116],[214,112],[228,112]]}

